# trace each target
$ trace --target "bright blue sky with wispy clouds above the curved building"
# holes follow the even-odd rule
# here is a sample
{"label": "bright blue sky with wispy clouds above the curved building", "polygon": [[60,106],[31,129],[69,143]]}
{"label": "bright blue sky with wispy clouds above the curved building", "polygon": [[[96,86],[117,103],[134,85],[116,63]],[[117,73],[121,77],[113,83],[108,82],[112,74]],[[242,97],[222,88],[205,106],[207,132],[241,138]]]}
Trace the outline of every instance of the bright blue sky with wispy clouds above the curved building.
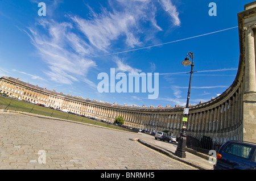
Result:
{"label": "bright blue sky with wispy clouds above the curved building", "polygon": [[[38,15],[39,2],[46,16]],[[217,16],[209,15],[210,2]],[[185,106],[191,67],[181,61],[193,52],[190,103],[207,102],[236,77],[237,13],[250,2],[2,0],[0,75],[91,100]],[[111,68],[116,74],[159,73],[158,98],[148,99],[148,91],[100,93],[97,76],[110,76]]]}

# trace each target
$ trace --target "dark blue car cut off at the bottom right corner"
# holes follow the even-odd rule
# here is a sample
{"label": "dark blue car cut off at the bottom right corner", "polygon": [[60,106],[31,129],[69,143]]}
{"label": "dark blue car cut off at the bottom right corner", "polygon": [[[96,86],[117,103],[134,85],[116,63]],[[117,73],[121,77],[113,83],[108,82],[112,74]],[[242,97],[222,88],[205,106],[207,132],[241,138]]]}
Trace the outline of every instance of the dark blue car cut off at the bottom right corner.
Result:
{"label": "dark blue car cut off at the bottom right corner", "polygon": [[217,153],[214,170],[256,170],[256,144],[246,141],[227,141]]}

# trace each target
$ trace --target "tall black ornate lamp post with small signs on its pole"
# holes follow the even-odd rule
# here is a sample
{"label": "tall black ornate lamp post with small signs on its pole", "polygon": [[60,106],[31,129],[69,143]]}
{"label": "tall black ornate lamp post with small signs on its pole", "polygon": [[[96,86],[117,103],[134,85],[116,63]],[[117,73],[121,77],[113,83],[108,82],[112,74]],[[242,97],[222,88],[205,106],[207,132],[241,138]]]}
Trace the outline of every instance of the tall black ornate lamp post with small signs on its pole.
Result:
{"label": "tall black ornate lamp post with small signs on its pole", "polygon": [[[189,61],[189,58],[192,58],[192,63],[191,61]],[[188,72],[190,73],[190,79],[189,79],[189,86],[188,86],[188,96],[187,96],[187,104],[186,104],[186,108],[188,110],[188,105],[189,105],[189,98],[190,98],[190,90],[191,90],[191,80],[192,80],[192,74],[196,71],[193,71],[193,67],[194,67],[194,55],[192,52],[188,52],[187,57],[185,58],[185,60],[183,62],[181,62],[182,65],[184,66],[188,66],[191,65],[191,71]],[[185,147],[186,147],[186,143],[187,143],[187,120],[188,120],[188,111],[185,112],[184,110],[184,117],[183,117],[183,126],[180,132],[180,138],[179,138],[179,142],[177,145],[177,149],[175,151],[175,155],[177,157],[180,158],[185,158],[186,157],[186,153],[185,153]]]}

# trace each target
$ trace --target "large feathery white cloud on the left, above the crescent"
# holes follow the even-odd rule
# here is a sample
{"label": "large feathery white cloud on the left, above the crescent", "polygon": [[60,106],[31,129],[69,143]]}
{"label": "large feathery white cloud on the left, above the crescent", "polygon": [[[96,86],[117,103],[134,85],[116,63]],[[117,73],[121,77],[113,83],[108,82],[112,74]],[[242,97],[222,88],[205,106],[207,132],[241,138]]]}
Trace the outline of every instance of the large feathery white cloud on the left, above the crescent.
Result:
{"label": "large feathery white cloud on the left, above the crescent", "polygon": [[[29,28],[26,32],[32,44],[38,50],[49,70],[45,73],[56,82],[71,84],[85,77],[90,68],[96,63],[85,54],[90,54],[90,48],[84,40],[72,32],[71,23],[57,23],[54,20],[43,20],[39,28]],[[41,29],[42,30],[42,29]]]}

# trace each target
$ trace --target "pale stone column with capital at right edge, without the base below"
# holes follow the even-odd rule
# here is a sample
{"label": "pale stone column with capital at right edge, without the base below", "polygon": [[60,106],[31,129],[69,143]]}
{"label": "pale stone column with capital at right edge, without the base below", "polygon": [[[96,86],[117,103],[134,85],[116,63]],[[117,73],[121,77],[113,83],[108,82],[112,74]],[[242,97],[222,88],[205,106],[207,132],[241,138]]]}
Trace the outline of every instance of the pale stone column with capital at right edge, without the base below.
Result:
{"label": "pale stone column with capital at right edge, without the base below", "polygon": [[245,94],[256,93],[253,28],[255,24],[243,28],[245,30]]}

